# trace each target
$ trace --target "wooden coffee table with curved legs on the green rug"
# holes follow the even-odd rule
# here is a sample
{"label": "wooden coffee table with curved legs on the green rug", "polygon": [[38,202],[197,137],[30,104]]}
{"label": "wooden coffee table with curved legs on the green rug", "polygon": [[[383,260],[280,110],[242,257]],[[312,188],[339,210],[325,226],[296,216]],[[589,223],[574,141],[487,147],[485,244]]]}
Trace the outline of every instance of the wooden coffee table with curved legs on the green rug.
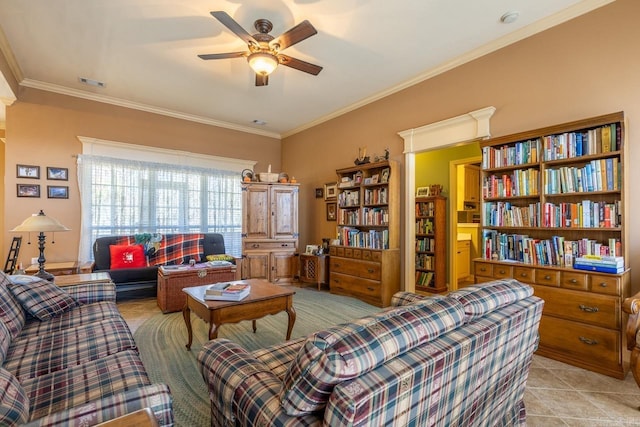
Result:
{"label": "wooden coffee table with curved legs on the green rug", "polygon": [[256,319],[267,314],[278,314],[286,311],[289,316],[286,339],[291,338],[293,324],[296,322],[296,311],[293,308],[293,295],[295,291],[274,285],[262,279],[245,280],[251,285],[251,293],[242,301],[205,301],[203,299],[205,286],[185,288],[182,291],[187,295],[187,302],[182,309],[184,323],[187,325],[189,342],[187,349],[191,350],[193,332],[191,329],[191,312],[209,323],[209,339],[218,337],[220,325],[225,323],[238,323],[243,320],[253,321],[253,332],[256,332]]}

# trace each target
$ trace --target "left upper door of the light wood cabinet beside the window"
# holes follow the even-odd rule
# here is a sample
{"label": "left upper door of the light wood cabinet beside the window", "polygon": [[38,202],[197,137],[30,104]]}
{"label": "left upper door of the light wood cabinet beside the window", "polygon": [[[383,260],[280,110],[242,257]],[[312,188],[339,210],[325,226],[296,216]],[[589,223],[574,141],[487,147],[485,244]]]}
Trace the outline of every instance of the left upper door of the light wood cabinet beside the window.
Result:
{"label": "left upper door of the light wood cabinet beside the window", "polygon": [[271,206],[268,185],[247,185],[242,188],[242,236],[245,239],[268,239]]}

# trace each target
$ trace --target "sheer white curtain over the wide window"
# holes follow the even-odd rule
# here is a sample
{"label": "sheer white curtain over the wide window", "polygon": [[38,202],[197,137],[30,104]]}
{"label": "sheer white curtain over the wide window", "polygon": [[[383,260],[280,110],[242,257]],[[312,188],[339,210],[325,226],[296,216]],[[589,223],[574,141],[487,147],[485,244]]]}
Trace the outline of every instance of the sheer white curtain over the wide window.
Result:
{"label": "sheer white curtain over the wide window", "polygon": [[83,154],[78,185],[78,260],[93,260],[97,237],[137,233],[220,233],[227,253],[242,252],[236,171]]}

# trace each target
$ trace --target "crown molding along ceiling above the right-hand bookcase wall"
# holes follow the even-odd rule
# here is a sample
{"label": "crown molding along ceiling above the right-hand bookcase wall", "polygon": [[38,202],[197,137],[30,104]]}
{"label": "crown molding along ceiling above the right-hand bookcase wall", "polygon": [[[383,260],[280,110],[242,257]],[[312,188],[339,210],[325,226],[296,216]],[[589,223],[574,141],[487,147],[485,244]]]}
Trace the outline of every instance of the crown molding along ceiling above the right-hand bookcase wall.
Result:
{"label": "crown molding along ceiling above the right-hand bookcase wall", "polygon": [[450,61],[447,61],[435,68],[429,69],[418,76],[406,80],[400,84],[392,86],[382,92],[378,92],[370,97],[364,98],[361,101],[358,101],[354,104],[351,104],[345,108],[334,111],[326,116],[320,117],[312,122],[304,124],[295,129],[289,130],[287,132],[282,133],[282,138],[286,138],[291,135],[295,135],[296,133],[302,132],[314,126],[317,126],[321,123],[329,121],[331,119],[335,119],[336,117],[342,116],[343,114],[349,113],[351,111],[357,110],[360,107],[364,107],[367,104],[371,104],[372,102],[378,101],[382,98],[385,98],[389,95],[392,95],[396,92],[400,92],[408,87],[414,86],[418,83],[421,83],[425,80],[428,80],[432,77],[435,77],[439,74],[443,74],[449,70],[452,70],[456,67],[466,64],[467,62],[471,62],[474,59],[478,59],[482,56],[488,55],[492,52],[495,52],[503,47],[509,46],[513,43],[516,43],[520,40],[524,40],[527,37],[531,37],[537,33],[548,30],[549,28],[555,27],[556,25],[560,25],[564,22],[567,22],[573,18],[576,18],[580,15],[584,15],[585,13],[591,12],[592,10],[598,9],[602,6],[605,6],[609,3],[613,3],[615,0],[586,0],[582,1],[574,6],[568,7],[554,15],[548,16],[544,19],[536,21],[532,24],[529,24],[525,27],[522,27],[512,33],[506,34],[499,39],[492,41],[491,43],[487,43],[483,46],[478,47],[472,51],[465,53],[464,55],[458,56]]}

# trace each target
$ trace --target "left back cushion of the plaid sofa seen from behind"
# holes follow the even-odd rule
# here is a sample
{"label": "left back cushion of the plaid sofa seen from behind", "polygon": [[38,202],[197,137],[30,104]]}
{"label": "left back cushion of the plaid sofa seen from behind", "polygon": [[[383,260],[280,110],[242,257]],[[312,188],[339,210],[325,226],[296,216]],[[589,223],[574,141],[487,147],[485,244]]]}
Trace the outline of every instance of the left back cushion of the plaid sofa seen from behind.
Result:
{"label": "left back cushion of the plaid sofa seen from behind", "polygon": [[282,407],[294,416],[321,410],[336,384],[369,372],[463,322],[462,304],[434,298],[316,332],[285,374]]}

